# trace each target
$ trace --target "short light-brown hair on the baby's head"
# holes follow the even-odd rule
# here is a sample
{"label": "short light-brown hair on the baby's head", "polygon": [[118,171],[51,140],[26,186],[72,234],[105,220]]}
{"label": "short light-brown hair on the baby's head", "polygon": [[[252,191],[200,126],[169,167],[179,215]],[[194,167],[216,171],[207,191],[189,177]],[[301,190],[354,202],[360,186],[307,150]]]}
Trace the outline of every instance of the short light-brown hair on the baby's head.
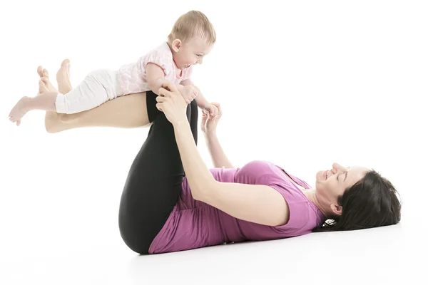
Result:
{"label": "short light-brown hair on the baby's head", "polygon": [[168,36],[168,42],[172,43],[175,38],[180,41],[190,41],[195,36],[205,38],[208,43],[215,43],[215,31],[207,16],[200,11],[189,11],[175,21],[173,30]]}

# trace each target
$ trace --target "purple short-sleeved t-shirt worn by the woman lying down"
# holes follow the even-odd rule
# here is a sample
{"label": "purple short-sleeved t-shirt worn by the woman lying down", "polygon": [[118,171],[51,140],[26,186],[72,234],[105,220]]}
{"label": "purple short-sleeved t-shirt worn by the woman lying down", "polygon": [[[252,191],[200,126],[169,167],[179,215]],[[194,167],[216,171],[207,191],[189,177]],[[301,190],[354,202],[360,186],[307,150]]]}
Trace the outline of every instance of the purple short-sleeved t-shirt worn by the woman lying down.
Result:
{"label": "purple short-sleeved t-shirt worn by the woman lying down", "polygon": [[[184,177],[182,191],[161,232],[153,239],[149,253],[178,252],[225,242],[262,241],[308,234],[324,221],[315,204],[285,175],[285,170],[265,161],[253,161],[236,169],[210,170],[215,180],[253,185],[267,185],[287,201],[290,219],[280,227],[246,222],[215,207],[195,201]],[[306,182],[287,173],[297,185],[309,189]]]}

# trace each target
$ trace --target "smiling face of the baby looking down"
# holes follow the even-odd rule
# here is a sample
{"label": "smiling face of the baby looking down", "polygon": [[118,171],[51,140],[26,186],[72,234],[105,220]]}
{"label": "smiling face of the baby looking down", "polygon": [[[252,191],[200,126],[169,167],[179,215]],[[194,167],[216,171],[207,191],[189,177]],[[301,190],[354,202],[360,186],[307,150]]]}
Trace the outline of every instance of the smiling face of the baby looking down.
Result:
{"label": "smiling face of the baby looking down", "polygon": [[193,38],[182,43],[178,52],[173,53],[175,64],[180,69],[189,68],[193,64],[202,64],[204,56],[210,53],[213,45],[207,43],[205,38]]}

